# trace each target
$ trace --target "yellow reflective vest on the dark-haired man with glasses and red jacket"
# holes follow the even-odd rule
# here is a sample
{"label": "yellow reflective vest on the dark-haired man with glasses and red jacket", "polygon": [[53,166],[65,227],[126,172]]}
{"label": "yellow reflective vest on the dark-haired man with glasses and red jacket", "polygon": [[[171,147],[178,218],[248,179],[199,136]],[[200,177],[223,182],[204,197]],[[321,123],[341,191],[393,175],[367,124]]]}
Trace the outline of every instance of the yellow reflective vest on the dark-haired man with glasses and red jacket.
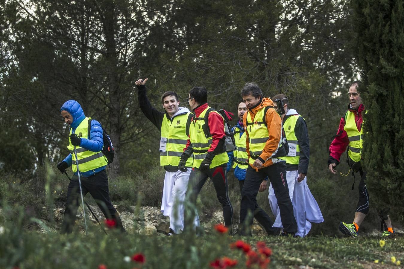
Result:
{"label": "yellow reflective vest on the dark-haired man with glasses and red jacket", "polygon": [[[194,118],[194,120],[191,122],[191,125],[189,126],[189,139],[191,140],[192,144],[192,150],[194,150],[194,163],[192,164],[192,167],[198,168],[204,158],[206,158],[206,155],[208,154],[208,149],[210,148],[210,145],[213,142],[212,136],[206,138],[206,134],[204,129],[208,130],[208,127],[205,128],[205,114],[206,111],[210,107],[208,106],[202,113],[199,115],[198,118]],[[217,111],[210,111],[210,113],[217,113]],[[219,114],[219,113],[217,113]],[[219,114],[220,115],[220,114]],[[223,118],[223,117],[222,117]],[[224,125],[225,121],[223,119],[223,131],[225,128]],[[229,161],[229,157],[227,156],[226,151],[219,153],[215,155],[215,157],[212,160],[212,163],[210,164],[210,168],[217,167],[219,165],[222,165],[224,163],[227,163]]]}

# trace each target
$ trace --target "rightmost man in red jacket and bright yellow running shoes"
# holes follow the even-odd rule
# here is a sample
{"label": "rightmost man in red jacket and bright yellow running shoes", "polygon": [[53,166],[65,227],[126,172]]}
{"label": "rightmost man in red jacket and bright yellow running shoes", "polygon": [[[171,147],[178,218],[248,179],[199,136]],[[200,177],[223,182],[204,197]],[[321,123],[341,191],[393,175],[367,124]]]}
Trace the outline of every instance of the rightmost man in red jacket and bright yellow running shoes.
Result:
{"label": "rightmost man in red jacket and bright yellow running shoes", "polygon": [[[328,158],[328,169],[333,174],[337,173],[335,167],[339,164],[341,154],[349,146],[347,152],[347,163],[353,173],[360,173],[361,180],[359,182],[359,201],[356,206],[355,217],[353,223],[339,223],[339,230],[341,233],[357,237],[358,229],[362,221],[365,219],[366,214],[369,212],[369,193],[366,188],[366,171],[363,171],[361,162],[362,158],[362,139],[363,139],[363,116],[364,105],[358,92],[360,81],[354,81],[349,87],[349,106],[348,111],[339,122],[337,135],[332,140],[330,145],[330,156]],[[387,216],[385,221],[385,227],[387,230],[383,232],[383,237],[393,234],[393,228],[391,226],[390,217]]]}

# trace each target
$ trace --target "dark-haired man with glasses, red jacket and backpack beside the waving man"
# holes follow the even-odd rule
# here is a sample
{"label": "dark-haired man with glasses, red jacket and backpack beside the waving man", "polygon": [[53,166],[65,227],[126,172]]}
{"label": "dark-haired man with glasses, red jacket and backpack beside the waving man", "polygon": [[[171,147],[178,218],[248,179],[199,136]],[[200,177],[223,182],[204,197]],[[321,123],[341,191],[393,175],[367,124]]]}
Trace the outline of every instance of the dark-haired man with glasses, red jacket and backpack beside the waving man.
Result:
{"label": "dark-haired man with glasses, red jacket and backpack beside the waving man", "polygon": [[[217,199],[222,205],[225,226],[231,232],[233,208],[229,200],[226,166],[229,157],[225,146],[225,122],[219,112],[210,108],[207,103],[208,92],[203,87],[194,87],[189,92],[187,101],[194,113],[189,126],[189,139],[179,162],[179,169],[185,169],[191,160],[192,171],[189,175],[189,184],[186,200],[190,209],[185,211],[185,226],[190,230],[188,223],[193,219],[198,194],[208,177],[213,182]],[[193,155],[193,156],[191,156]],[[188,226],[189,225],[189,226]]]}

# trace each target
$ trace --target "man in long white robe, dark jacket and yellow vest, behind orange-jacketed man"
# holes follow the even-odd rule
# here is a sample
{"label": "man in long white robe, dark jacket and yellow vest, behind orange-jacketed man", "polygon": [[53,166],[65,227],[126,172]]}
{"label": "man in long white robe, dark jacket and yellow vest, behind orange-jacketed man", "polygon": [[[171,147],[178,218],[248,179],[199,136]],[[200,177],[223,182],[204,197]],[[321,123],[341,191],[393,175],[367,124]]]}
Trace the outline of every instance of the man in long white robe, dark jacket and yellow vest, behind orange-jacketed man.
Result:
{"label": "man in long white robe, dark jacket and yellow vest, behind orange-jacketed man", "polygon": [[[309,167],[309,136],[306,121],[295,109],[288,109],[288,97],[284,94],[277,94],[272,98],[274,108],[283,106],[284,113],[281,113],[282,124],[288,140],[289,153],[286,160],[286,180],[288,182],[290,200],[293,204],[293,214],[297,221],[297,233],[295,236],[305,237],[310,229],[311,223],[323,222],[323,216],[318,207],[316,199],[307,186],[307,169]],[[278,111],[281,111],[280,107]],[[272,213],[276,216],[273,227],[282,228],[278,201],[274,194],[274,188],[269,186],[269,205]]]}

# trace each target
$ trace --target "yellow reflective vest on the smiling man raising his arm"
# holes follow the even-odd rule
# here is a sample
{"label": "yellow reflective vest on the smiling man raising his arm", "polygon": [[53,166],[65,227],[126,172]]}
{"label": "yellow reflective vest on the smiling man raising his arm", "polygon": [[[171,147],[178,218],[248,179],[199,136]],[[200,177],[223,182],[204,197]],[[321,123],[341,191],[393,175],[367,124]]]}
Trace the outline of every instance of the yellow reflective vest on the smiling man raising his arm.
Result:
{"label": "yellow reflective vest on the smiling man raising his arm", "polygon": [[[166,151],[160,151],[160,165],[172,165],[178,166],[181,155],[187,145],[186,127],[189,114],[185,113],[173,117],[170,121],[166,115],[164,115],[161,123],[161,136],[167,138]],[[188,158],[187,167],[192,167],[192,158]]]}

